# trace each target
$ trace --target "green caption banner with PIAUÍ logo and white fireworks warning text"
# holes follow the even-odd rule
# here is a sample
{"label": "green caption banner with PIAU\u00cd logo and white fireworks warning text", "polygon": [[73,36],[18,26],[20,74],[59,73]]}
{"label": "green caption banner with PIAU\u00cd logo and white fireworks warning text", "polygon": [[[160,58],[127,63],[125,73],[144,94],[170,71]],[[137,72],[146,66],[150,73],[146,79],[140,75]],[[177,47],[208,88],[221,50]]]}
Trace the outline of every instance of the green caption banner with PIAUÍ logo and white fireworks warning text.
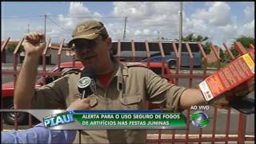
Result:
{"label": "green caption banner with PIAU\u00cd logo and white fireworks warning text", "polygon": [[42,118],[53,130],[186,129],[182,113],[162,110],[74,110]]}

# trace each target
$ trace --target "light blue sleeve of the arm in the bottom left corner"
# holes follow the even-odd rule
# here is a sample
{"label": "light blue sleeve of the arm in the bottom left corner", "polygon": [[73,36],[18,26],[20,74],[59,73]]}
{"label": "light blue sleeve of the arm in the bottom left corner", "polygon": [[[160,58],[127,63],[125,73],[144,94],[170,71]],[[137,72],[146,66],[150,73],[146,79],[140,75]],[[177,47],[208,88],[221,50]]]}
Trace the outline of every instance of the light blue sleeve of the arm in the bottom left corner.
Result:
{"label": "light blue sleeve of the arm in the bottom left corner", "polygon": [[24,131],[1,132],[2,143],[71,143],[76,130],[50,130],[42,123]]}

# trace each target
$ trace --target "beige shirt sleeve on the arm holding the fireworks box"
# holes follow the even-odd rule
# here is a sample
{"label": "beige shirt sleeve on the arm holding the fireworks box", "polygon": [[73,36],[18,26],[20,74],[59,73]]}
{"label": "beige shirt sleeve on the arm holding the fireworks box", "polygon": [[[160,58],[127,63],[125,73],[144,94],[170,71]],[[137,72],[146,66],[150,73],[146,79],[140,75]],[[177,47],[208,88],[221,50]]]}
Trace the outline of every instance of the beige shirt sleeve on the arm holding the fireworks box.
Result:
{"label": "beige shirt sleeve on the arm holding the fireworks box", "polygon": [[179,109],[179,100],[182,93],[186,90],[182,86],[174,86],[166,80],[155,74],[152,70],[147,70],[146,90],[149,101],[154,104],[166,104],[166,108],[177,112]]}

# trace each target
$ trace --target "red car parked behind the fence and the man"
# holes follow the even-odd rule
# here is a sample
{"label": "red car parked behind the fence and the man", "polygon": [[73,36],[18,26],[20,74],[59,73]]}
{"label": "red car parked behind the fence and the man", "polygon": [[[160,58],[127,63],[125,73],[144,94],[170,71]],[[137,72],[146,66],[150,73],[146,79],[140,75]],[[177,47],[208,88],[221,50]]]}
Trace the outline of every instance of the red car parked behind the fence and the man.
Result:
{"label": "red car parked behind the fence and the man", "polygon": [[[122,62],[126,63],[126,62]],[[140,62],[144,65],[147,65],[146,62]],[[82,69],[81,62],[75,62],[75,67],[78,69]],[[66,70],[70,70],[73,68],[73,62],[62,62],[60,65],[60,70],[64,73]],[[150,70],[153,70],[156,74],[162,74],[162,63],[158,62],[150,62]],[[58,72],[58,67],[55,66],[50,72],[55,73]],[[164,74],[170,74],[169,67],[165,64]],[[53,82],[55,79],[59,78],[59,76],[46,76],[46,84]],[[166,78],[170,83],[174,83],[173,78]],[[43,86],[43,77],[38,78],[36,81],[35,89],[39,89]],[[7,82],[2,84],[2,100],[3,100],[3,108],[4,109],[14,109],[14,82]],[[149,109],[155,109],[158,106],[155,106],[149,103]],[[3,114],[4,122],[10,125],[14,125],[14,113],[4,113]],[[26,113],[18,114],[18,124],[26,124],[28,122],[28,116]]]}

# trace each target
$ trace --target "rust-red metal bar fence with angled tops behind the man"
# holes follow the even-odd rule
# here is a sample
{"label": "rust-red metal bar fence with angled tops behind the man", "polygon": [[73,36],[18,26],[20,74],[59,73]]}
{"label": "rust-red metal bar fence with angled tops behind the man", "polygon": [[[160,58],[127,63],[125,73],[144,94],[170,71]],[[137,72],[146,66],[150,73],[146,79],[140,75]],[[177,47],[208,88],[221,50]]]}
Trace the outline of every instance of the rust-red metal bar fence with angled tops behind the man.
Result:
{"label": "rust-red metal bar fence with angled tops behind the man", "polygon": [[[14,50],[13,53],[13,70],[2,70],[2,74],[6,74],[6,75],[12,75],[14,77],[14,84],[17,80],[17,75],[18,75],[18,70],[17,70],[17,65],[18,65],[18,52],[21,49],[21,45],[23,42],[23,38],[18,42],[18,46],[16,47],[16,49]],[[10,38],[7,38],[5,42],[2,42],[2,46],[1,46],[1,54],[2,57],[5,56],[5,50],[6,50],[6,46],[8,44],[8,42],[10,42]],[[46,70],[46,53],[47,50],[49,50],[50,47],[50,39],[46,42],[46,49],[43,51],[42,54],[42,70],[38,71],[38,75],[42,76],[44,78],[43,83],[46,83],[46,76],[51,75],[51,76],[60,76],[62,73],[60,72],[60,65],[62,62],[62,48],[63,48],[63,44],[64,44],[64,39],[62,40],[61,44],[59,45],[59,49],[58,49],[58,72],[56,73],[51,73],[49,71]],[[227,53],[230,55],[230,60],[234,59],[234,55],[230,52],[230,47],[228,45],[226,45],[226,43],[223,43],[223,46],[225,47]],[[196,74],[194,73],[194,66],[193,66],[193,54],[191,53],[190,50],[190,45],[188,42],[186,42],[186,50],[190,55],[190,67],[189,67],[189,73],[182,73],[181,70],[178,69],[178,67],[180,66],[180,61],[179,61],[179,56],[178,56],[178,49],[175,45],[175,43],[172,43],[172,47],[173,47],[173,51],[176,54],[176,59],[177,59],[177,63],[176,63],[176,69],[172,70],[172,73],[170,74],[164,74],[164,64],[165,64],[165,53],[162,47],[162,42],[159,41],[158,42],[158,48],[159,51],[161,53],[162,56],[162,74],[160,74],[160,76],[162,78],[174,78],[174,83],[176,85],[179,85],[179,80],[184,78],[187,79],[189,82],[189,87],[192,87],[192,82],[194,79],[200,79],[203,80],[204,78],[206,78],[207,76],[210,75],[209,73],[209,69],[207,68],[207,58],[206,58],[206,53],[204,51],[204,49],[202,48],[202,44],[201,42],[198,42],[198,49],[201,51],[202,53],[202,58],[203,58],[203,63],[202,63],[202,74]],[[218,67],[217,69],[219,70],[221,68],[220,64],[221,64],[221,58],[218,55],[218,52],[214,46],[214,44],[211,42],[210,43],[210,48],[211,50],[213,50],[215,57],[217,58],[217,64]],[[247,51],[246,49],[242,46],[242,44],[240,42],[234,42],[234,48],[235,50],[238,51],[239,54],[246,54]],[[132,51],[132,56],[131,59],[132,61],[135,60],[136,58],[136,47],[134,46],[134,41],[131,41],[131,48],[130,50]],[[145,50],[146,50],[146,58],[148,58],[147,61],[147,66],[150,66],[150,47],[149,47],[149,42],[145,41]],[[250,54],[251,56],[254,58],[254,45],[250,45]],[[116,57],[120,60],[121,58],[121,51],[122,51],[122,42],[121,40],[118,40],[118,52],[116,54]],[[75,55],[70,55],[73,59],[73,67],[75,66]],[[15,86],[15,85],[14,85]],[[3,102],[3,99],[2,101]],[[160,107],[162,108],[162,107]],[[187,117],[187,127],[186,127],[186,134],[179,134],[178,130],[170,130],[170,134],[163,134],[164,130],[158,130],[158,132],[156,134],[148,134],[147,143],[176,143],[176,142],[182,142],[182,143],[187,143],[187,142],[225,142],[225,143],[230,143],[230,142],[237,142],[237,143],[246,143],[246,142],[254,142],[254,135],[253,136],[247,136],[246,135],[246,115],[240,113],[238,114],[238,122],[237,122],[237,134],[236,135],[232,135],[230,134],[230,115],[231,115],[231,110],[227,110],[227,114],[226,114],[226,128],[224,131],[224,137],[218,137],[216,134],[216,122],[218,119],[218,108],[214,108],[214,114],[212,115],[212,121],[210,123],[210,126],[212,126],[212,130],[211,130],[211,134],[210,136],[208,135],[207,137],[204,136],[203,134],[203,130],[204,128],[200,128],[198,129],[198,134],[196,134],[195,137],[191,137],[190,134],[190,110],[185,110],[186,111],[186,117]],[[2,114],[1,114],[1,119],[2,119]],[[2,127],[3,123],[1,122],[1,130],[3,129]],[[32,127],[32,116],[29,116],[29,127]],[[14,121],[14,129],[18,130],[18,122],[17,122],[17,113],[15,113],[15,121]],[[182,136],[181,136],[182,135]]]}

